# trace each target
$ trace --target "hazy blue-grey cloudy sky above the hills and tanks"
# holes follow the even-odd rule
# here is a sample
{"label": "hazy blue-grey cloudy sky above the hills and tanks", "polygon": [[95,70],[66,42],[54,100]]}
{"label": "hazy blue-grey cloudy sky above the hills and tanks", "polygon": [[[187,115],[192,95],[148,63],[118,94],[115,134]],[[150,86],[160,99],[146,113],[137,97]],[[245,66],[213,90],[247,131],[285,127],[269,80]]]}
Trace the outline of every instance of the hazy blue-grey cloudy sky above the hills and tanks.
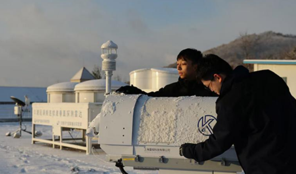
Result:
{"label": "hazy blue-grey cloudy sky above the hills and tanks", "polygon": [[240,33],[296,35],[295,0],[0,0],[0,86],[47,87],[118,45],[114,76],[206,51]]}

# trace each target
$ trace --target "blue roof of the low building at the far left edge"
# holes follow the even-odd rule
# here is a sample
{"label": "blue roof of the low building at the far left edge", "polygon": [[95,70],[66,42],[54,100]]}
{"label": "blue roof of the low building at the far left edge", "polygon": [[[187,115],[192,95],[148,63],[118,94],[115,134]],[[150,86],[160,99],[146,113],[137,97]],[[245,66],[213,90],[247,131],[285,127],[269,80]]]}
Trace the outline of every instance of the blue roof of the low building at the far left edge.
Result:
{"label": "blue roof of the low building at the far left edge", "polygon": [[25,101],[27,95],[31,102],[46,102],[46,88],[0,86],[0,102],[13,102],[11,96]]}

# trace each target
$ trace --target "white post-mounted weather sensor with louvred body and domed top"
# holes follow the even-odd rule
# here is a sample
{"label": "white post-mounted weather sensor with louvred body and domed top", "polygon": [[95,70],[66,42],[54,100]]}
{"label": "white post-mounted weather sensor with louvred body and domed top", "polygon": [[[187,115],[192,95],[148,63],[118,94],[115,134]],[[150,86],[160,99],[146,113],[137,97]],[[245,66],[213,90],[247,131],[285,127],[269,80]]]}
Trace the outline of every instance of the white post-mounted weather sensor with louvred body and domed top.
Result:
{"label": "white post-mounted weather sensor with louvred body and domed top", "polygon": [[108,40],[101,46],[102,54],[102,71],[106,76],[106,94],[111,93],[111,77],[112,72],[116,70],[116,58],[118,46],[112,40]]}

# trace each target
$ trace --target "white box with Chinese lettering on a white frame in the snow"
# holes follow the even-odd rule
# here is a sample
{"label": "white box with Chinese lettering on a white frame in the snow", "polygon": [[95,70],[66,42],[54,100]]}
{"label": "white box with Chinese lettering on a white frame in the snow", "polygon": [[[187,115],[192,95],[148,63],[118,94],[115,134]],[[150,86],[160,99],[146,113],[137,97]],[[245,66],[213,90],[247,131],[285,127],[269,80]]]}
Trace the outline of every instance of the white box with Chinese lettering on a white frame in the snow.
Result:
{"label": "white box with Chinese lettering on a white frame in the snow", "polygon": [[[100,103],[33,103],[32,132],[36,131],[36,125],[52,126],[52,138],[37,138],[32,134],[32,144],[35,142],[52,144],[53,148],[59,146],[70,147],[86,151],[90,154],[92,138],[85,136],[88,123],[93,120],[100,111]],[[82,131],[81,138],[64,138],[63,131],[77,129]],[[57,137],[59,137],[57,139]],[[82,140],[85,146],[68,143],[72,140]]]}

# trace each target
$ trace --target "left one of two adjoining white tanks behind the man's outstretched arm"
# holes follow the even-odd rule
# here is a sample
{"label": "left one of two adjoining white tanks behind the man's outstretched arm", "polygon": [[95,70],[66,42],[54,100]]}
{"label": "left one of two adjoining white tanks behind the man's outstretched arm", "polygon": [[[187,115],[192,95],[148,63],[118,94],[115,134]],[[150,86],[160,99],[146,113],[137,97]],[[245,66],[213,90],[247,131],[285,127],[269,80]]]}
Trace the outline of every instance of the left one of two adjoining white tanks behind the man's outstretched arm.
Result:
{"label": "left one of two adjoining white tanks behind the man's outstretched arm", "polygon": [[151,70],[148,68],[138,69],[130,72],[130,85],[134,85],[142,90],[152,88]]}

